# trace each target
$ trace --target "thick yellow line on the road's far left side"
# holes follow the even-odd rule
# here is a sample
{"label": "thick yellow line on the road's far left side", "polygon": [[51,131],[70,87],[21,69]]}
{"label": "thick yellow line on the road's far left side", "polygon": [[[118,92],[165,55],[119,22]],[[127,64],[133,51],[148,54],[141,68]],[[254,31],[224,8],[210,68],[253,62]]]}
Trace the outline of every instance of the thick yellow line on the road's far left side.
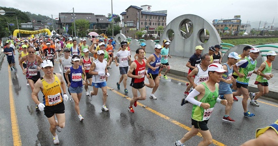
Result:
{"label": "thick yellow line on the road's far left side", "polygon": [[19,127],[18,127],[17,115],[16,115],[16,107],[15,107],[15,102],[14,102],[12,75],[11,75],[9,66],[8,66],[8,72],[9,72],[9,94],[10,94],[10,109],[11,109],[13,141],[14,141],[14,145],[21,146],[22,143],[21,143],[21,138],[20,138],[20,133],[19,133]]}

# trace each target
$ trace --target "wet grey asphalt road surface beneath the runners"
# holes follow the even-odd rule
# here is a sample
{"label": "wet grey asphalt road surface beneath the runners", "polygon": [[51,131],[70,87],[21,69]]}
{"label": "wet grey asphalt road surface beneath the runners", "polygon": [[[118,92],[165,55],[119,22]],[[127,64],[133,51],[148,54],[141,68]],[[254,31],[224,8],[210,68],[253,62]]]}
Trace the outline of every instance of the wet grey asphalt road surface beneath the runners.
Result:
{"label": "wet grey asphalt road surface beneath the runners", "polygon": [[[11,72],[11,77],[22,145],[54,145],[47,117],[43,112],[35,112],[35,104],[30,98],[31,89],[26,86],[26,79],[17,59],[16,64],[18,71]],[[83,122],[78,120],[74,103],[69,100],[65,102],[66,127],[61,133],[57,132],[60,145],[174,145],[175,140],[179,140],[188,132],[186,129],[191,127],[192,105],[180,106],[187,81],[185,78],[172,74],[168,75],[172,77],[168,80],[162,77],[155,93],[158,99],[150,99],[151,89],[147,88],[147,99],[139,101],[142,105],[134,108],[135,113],[129,113],[127,110],[129,98],[123,97],[123,84],[120,90],[116,86],[120,77],[119,69],[113,63],[111,66],[107,85],[115,90],[108,90],[109,112],[101,110],[101,90],[90,102],[83,91],[79,103],[80,113],[84,117]],[[0,145],[13,145],[8,69],[5,57],[0,70]],[[59,72],[58,63],[55,72]],[[128,96],[132,98],[130,81],[128,78],[127,89]],[[42,100],[41,92],[39,99]],[[248,109],[256,114],[254,118],[243,116],[241,101],[242,98],[239,97],[239,102],[234,103],[230,114],[230,117],[236,120],[235,123],[222,121],[225,107],[220,104],[215,106],[208,127],[216,142],[221,142],[223,145],[240,145],[254,138],[256,128],[265,127],[277,119],[277,101],[262,98],[259,100],[260,107],[248,105]],[[147,108],[142,107],[143,105]],[[195,136],[186,144],[197,145],[201,140],[202,137]],[[217,145],[215,143],[211,145]]]}

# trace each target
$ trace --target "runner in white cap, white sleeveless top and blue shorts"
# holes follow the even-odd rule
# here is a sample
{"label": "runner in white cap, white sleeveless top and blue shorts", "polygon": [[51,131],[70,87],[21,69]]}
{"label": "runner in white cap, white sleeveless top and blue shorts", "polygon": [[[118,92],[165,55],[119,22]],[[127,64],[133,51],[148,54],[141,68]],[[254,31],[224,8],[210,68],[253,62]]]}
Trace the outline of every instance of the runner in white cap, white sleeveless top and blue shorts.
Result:
{"label": "runner in white cap, white sleeveless top and blue shorts", "polygon": [[107,70],[107,61],[104,60],[104,51],[99,50],[98,51],[98,59],[92,62],[89,74],[92,76],[92,89],[93,91],[90,91],[89,100],[92,100],[93,95],[97,95],[99,88],[102,89],[103,93],[103,105],[102,110],[108,111],[109,109],[106,107],[106,100],[107,100],[107,84],[105,81],[105,76],[109,77],[110,74]]}

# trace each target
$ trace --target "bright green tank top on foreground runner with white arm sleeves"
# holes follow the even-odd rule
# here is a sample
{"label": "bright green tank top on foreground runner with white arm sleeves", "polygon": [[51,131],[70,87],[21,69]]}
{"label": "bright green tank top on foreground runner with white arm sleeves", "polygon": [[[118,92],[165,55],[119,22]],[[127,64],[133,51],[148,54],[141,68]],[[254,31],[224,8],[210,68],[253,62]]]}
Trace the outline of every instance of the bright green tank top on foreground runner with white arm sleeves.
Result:
{"label": "bright green tank top on foreground runner with white arm sleeves", "polygon": [[[202,82],[201,84],[203,84],[205,86],[205,95],[200,100],[200,102],[208,103],[210,105],[210,108],[205,110],[202,107],[193,105],[191,118],[196,121],[204,121],[204,120],[208,120],[210,118],[211,113],[214,109],[214,105],[216,104],[217,97],[218,97],[218,87],[216,84],[215,84],[214,92],[211,92],[209,90],[209,88],[205,82]],[[195,100],[198,100],[197,96],[195,97]]]}

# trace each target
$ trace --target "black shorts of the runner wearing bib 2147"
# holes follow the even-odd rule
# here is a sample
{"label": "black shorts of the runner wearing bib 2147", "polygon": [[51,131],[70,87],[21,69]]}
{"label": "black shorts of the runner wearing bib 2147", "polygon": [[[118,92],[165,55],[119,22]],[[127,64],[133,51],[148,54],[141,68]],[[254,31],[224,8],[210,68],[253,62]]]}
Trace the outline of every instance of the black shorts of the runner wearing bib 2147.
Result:
{"label": "black shorts of the runner wearing bib 2147", "polygon": [[54,114],[64,114],[65,113],[65,105],[64,101],[55,106],[45,106],[44,107],[44,115],[48,118],[51,118]]}

